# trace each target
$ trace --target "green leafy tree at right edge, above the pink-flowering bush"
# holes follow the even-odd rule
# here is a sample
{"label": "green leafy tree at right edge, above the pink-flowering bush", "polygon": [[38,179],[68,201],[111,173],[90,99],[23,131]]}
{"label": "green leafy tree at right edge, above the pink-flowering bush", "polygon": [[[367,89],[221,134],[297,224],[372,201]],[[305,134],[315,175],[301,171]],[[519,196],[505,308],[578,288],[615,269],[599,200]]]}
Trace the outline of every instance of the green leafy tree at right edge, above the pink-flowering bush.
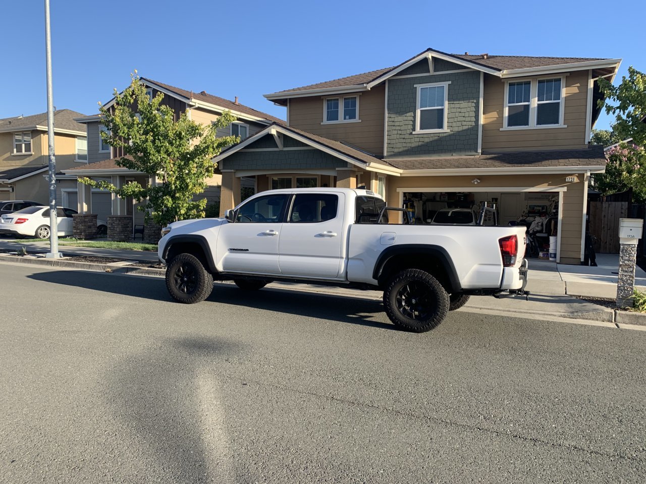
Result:
{"label": "green leafy tree at right edge, above the pink-flowering bush", "polygon": [[[646,145],[646,74],[632,66],[628,77],[621,78],[621,84],[613,86],[607,79],[599,79],[599,88],[606,100],[599,100],[599,107],[605,105],[608,114],[616,116],[612,131],[619,139],[632,138],[638,146]],[[610,143],[612,144],[612,143]]]}

